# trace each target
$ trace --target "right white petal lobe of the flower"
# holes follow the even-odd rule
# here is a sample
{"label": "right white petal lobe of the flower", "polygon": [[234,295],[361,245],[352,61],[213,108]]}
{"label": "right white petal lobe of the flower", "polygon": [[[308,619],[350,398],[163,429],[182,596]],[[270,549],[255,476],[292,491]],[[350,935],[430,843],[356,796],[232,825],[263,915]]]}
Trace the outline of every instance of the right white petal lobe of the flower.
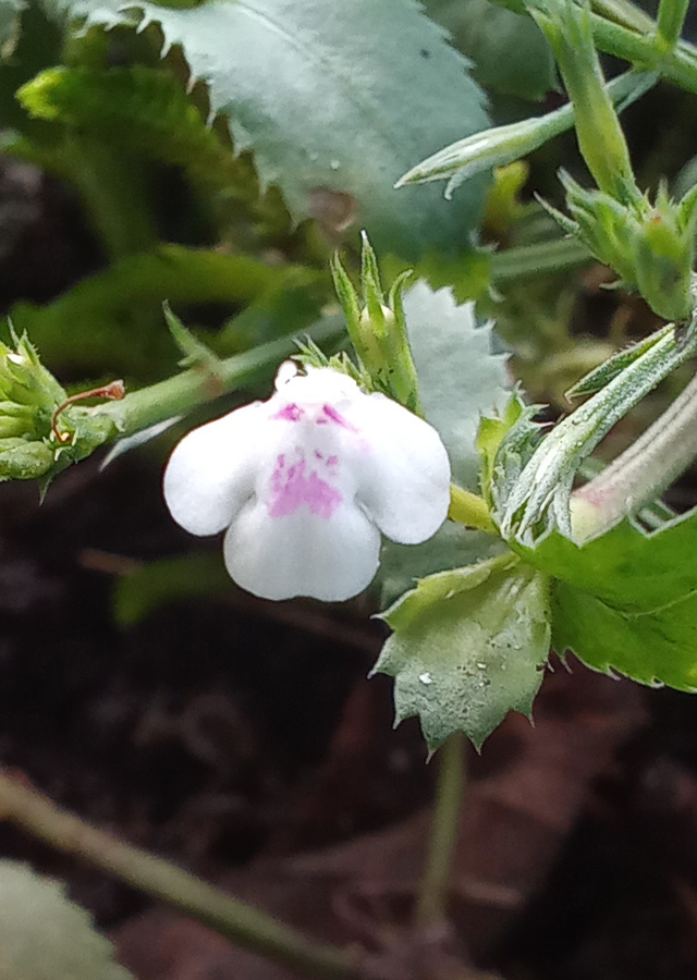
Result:
{"label": "right white petal lobe of the flower", "polygon": [[378,393],[356,400],[347,417],[370,450],[360,463],[358,501],[400,544],[432,537],[450,505],[450,462],[436,429]]}

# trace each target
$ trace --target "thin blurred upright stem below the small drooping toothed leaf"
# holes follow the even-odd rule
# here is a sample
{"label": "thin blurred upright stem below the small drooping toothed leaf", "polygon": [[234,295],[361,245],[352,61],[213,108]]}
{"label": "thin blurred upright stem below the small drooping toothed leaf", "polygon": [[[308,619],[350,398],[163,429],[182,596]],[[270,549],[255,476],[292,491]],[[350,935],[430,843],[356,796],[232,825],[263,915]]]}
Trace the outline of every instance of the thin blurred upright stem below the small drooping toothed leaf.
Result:
{"label": "thin blurred upright stem below the small drooping toothed leaf", "polygon": [[465,789],[465,736],[462,732],[456,732],[441,749],[436,809],[414,920],[418,930],[437,926],[448,916],[460,811]]}

